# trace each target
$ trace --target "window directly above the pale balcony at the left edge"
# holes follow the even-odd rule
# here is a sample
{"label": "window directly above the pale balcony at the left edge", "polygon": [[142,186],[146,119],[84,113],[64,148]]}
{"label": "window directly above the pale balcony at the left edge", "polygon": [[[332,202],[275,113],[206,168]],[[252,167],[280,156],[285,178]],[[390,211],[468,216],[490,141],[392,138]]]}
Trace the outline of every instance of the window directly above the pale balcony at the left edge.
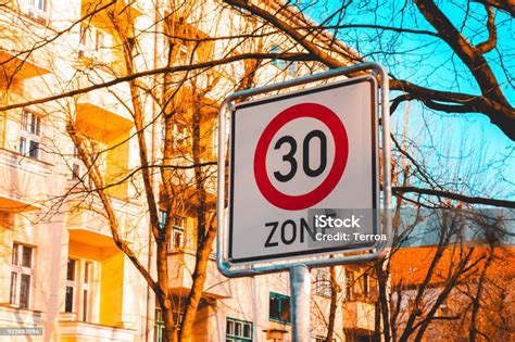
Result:
{"label": "window directly above the pale balcony at the left edge", "polygon": [[41,118],[33,112],[22,112],[22,134],[18,152],[34,159],[40,159]]}

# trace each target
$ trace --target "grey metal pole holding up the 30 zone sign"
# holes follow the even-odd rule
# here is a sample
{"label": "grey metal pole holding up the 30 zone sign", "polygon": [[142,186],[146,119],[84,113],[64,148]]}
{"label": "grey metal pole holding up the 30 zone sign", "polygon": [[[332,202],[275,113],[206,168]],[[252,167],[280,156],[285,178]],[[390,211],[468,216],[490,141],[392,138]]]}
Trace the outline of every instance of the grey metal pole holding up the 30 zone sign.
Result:
{"label": "grey metal pole holding up the 30 zone sign", "polygon": [[304,265],[290,268],[292,341],[309,341],[311,334],[311,275]]}

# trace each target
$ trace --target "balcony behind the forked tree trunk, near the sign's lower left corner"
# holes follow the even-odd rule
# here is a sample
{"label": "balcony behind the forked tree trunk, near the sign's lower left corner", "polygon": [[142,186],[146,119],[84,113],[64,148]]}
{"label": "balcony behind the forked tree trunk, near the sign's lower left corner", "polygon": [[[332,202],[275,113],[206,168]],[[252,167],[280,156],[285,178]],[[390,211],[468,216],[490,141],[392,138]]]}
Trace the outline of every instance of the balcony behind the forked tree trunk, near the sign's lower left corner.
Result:
{"label": "balcony behind the forked tree trunk, near the sign's lower left corner", "polygon": [[[193,251],[172,251],[168,254],[168,277],[171,291],[179,296],[188,295],[191,290],[191,275],[194,270]],[[227,279],[216,268],[216,261],[208,259],[208,278],[203,296],[205,299],[227,299],[229,289]]]}

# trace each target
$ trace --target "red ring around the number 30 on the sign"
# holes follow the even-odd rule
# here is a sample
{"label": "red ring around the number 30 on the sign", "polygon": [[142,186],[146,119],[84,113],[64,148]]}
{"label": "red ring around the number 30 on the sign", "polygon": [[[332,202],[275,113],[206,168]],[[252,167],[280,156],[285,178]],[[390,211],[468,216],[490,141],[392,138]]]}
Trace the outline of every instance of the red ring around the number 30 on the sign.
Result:
{"label": "red ring around the number 30 on the sign", "polygon": [[[266,173],[266,152],[277,131],[289,122],[300,117],[312,117],[329,128],[335,141],[335,161],[326,178],[312,191],[289,195],[277,190]],[[254,153],[254,177],[263,197],[273,205],[287,211],[300,211],[313,206],[324,200],[340,181],[349,155],[349,141],[346,127],[338,115],[328,107],[317,103],[301,103],[280,112],[266,126],[258,141]]]}

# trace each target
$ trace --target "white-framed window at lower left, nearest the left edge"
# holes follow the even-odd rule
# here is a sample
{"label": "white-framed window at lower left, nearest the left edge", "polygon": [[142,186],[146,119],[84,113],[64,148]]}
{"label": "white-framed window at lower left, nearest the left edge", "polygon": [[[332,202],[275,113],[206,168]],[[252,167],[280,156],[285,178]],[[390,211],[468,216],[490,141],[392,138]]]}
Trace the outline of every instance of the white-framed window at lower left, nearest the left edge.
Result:
{"label": "white-framed window at lower left, nearest the left edge", "polygon": [[34,248],[14,243],[11,256],[10,303],[20,308],[28,308],[30,280],[33,277]]}

